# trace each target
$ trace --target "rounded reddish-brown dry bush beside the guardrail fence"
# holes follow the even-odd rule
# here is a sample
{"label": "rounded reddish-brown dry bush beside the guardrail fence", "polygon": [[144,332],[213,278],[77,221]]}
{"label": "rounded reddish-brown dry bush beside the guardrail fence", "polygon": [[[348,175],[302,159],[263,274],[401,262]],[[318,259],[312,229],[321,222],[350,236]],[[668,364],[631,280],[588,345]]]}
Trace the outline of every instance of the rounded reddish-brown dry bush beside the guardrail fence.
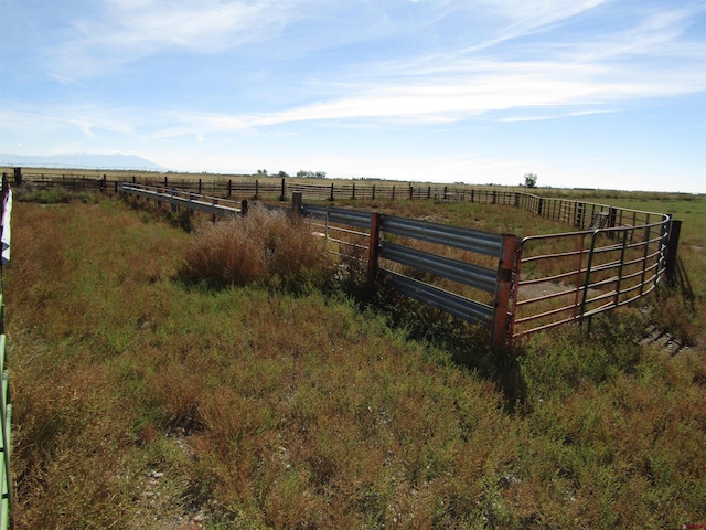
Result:
{"label": "rounded reddish-brown dry bush beside the guardrail fence", "polygon": [[259,283],[291,290],[323,286],[332,275],[324,242],[308,224],[264,209],[197,227],[180,272],[212,287]]}

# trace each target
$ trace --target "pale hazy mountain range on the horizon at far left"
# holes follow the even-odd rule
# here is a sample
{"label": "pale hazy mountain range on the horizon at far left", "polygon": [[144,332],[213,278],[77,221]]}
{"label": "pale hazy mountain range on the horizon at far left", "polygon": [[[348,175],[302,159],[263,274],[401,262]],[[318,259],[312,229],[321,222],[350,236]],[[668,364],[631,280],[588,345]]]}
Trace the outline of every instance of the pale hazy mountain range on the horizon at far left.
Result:
{"label": "pale hazy mountain range on the horizon at far left", "polygon": [[0,153],[0,166],[25,168],[75,168],[75,169],[142,169],[164,171],[163,168],[133,155],[6,155]]}

